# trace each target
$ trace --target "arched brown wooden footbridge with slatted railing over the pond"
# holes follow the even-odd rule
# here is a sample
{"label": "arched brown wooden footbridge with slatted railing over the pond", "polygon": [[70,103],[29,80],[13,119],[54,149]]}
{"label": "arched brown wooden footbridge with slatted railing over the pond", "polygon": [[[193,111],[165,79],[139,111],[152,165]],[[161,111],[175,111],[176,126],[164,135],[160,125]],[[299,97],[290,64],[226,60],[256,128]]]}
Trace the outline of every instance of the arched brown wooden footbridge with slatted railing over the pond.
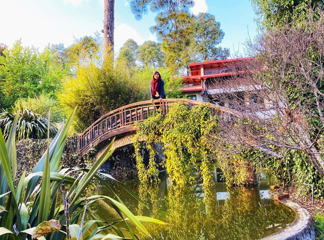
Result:
{"label": "arched brown wooden footbridge with slatted railing over the pond", "polygon": [[[152,104],[152,101],[129,104],[105,114],[89,126],[83,133],[75,134],[80,157],[86,154],[91,147],[111,137],[116,136],[118,138],[136,131],[135,122],[141,122],[151,116],[155,116],[159,108],[161,108],[162,114],[165,116],[168,114],[169,107],[179,101],[184,102],[189,107],[203,104],[203,102],[200,101],[182,98],[162,99],[161,102],[155,100],[154,103],[156,104]],[[222,115],[233,114],[233,111],[226,107],[220,107],[213,104],[210,104],[210,106],[213,109],[213,115],[216,112]]]}

